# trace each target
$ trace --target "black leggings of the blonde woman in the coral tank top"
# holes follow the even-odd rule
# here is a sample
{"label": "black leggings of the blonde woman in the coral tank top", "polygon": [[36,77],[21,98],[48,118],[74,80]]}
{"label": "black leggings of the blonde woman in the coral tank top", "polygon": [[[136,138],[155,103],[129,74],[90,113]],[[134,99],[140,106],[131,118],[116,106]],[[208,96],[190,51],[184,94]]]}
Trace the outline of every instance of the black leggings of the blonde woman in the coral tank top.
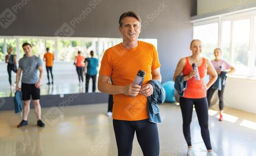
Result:
{"label": "black leggings of the blonde woman in the coral tank top", "polygon": [[180,106],[183,117],[183,134],[188,146],[191,146],[190,123],[192,120],[193,105],[199,125],[201,127],[201,136],[207,149],[211,149],[210,133],[208,129],[208,103],[206,98],[188,99],[180,97]]}

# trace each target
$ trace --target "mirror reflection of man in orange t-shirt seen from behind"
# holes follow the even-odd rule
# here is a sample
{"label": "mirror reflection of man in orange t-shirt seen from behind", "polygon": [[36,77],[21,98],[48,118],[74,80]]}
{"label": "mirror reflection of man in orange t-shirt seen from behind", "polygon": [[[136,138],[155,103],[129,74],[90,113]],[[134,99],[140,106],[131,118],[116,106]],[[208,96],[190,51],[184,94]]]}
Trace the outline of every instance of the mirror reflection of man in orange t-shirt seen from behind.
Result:
{"label": "mirror reflection of man in orange t-shirt seen from behind", "polygon": [[52,76],[52,84],[53,84],[53,60],[54,60],[54,54],[50,53],[49,48],[46,48],[46,53],[44,55],[44,61],[46,61],[46,72],[47,72],[47,78],[48,78],[48,83],[50,84],[50,79],[49,79],[49,71]]}

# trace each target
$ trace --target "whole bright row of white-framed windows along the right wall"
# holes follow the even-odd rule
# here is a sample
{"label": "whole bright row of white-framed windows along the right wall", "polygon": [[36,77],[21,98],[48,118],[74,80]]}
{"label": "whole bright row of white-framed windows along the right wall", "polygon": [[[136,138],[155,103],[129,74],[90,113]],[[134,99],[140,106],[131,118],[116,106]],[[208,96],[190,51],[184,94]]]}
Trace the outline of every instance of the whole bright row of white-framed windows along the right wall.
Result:
{"label": "whole bright row of white-framed windows along the right wall", "polygon": [[236,68],[234,74],[256,76],[256,11],[193,23],[193,38],[202,41],[203,57],[214,59],[213,50],[220,47],[223,59]]}

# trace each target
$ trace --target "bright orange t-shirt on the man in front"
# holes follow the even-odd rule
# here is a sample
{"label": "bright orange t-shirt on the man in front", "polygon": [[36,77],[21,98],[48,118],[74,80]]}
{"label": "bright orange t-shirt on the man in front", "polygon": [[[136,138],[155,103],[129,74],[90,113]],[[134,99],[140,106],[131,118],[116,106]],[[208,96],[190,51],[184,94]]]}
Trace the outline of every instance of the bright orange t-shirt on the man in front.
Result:
{"label": "bright orange t-shirt on the man in front", "polygon": [[[133,83],[138,70],[146,72],[143,84],[151,80],[151,71],[159,68],[155,47],[144,41],[132,49],[125,49],[121,43],[107,49],[101,60],[100,74],[112,78],[113,85],[124,86]],[[113,95],[113,119],[136,121],[148,118],[147,98],[141,94],[130,97],[124,94]]]}

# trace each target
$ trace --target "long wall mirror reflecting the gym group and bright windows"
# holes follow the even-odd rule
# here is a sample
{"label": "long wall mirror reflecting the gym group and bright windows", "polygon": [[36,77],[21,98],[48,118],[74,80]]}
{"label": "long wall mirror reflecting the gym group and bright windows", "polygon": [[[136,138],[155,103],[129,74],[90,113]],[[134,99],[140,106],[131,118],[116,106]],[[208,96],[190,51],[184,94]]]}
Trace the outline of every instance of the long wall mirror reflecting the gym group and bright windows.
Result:
{"label": "long wall mirror reflecting the gym group and bright windows", "polygon": [[[152,43],[157,48],[156,39],[139,40]],[[99,69],[101,66],[101,57],[103,56],[106,49],[121,43],[122,39],[88,37],[0,36],[0,97],[14,96],[16,88],[16,73],[12,71],[10,74],[8,74],[5,57],[9,54],[9,47],[12,47],[12,54],[16,55],[18,62],[18,60],[25,55],[22,49],[22,44],[24,42],[30,43],[32,45],[33,55],[40,57],[43,61],[44,77],[42,80],[40,94],[58,95],[85,93],[86,75],[87,78],[90,77],[88,83],[88,93],[94,92],[92,78],[91,76],[88,76],[90,75],[90,70],[87,71],[87,68],[93,65],[93,63],[95,64],[96,62],[98,63],[95,67],[97,73],[95,76],[95,92],[99,92],[99,90],[97,89],[97,82]],[[46,66],[49,65],[49,62],[46,61],[46,48],[49,48],[49,53],[52,53],[52,57],[54,57],[52,70],[50,70],[49,68],[46,69]],[[79,61],[77,62],[78,51],[81,52],[81,57],[79,57]],[[97,61],[91,61],[91,51],[93,51],[93,59]],[[52,57],[51,59],[53,59]],[[80,71],[82,72],[82,76],[80,74],[80,82],[77,70],[78,66],[82,66],[82,70],[80,69]],[[11,85],[9,83],[9,75]],[[19,87],[20,85],[21,84],[19,84]]]}

